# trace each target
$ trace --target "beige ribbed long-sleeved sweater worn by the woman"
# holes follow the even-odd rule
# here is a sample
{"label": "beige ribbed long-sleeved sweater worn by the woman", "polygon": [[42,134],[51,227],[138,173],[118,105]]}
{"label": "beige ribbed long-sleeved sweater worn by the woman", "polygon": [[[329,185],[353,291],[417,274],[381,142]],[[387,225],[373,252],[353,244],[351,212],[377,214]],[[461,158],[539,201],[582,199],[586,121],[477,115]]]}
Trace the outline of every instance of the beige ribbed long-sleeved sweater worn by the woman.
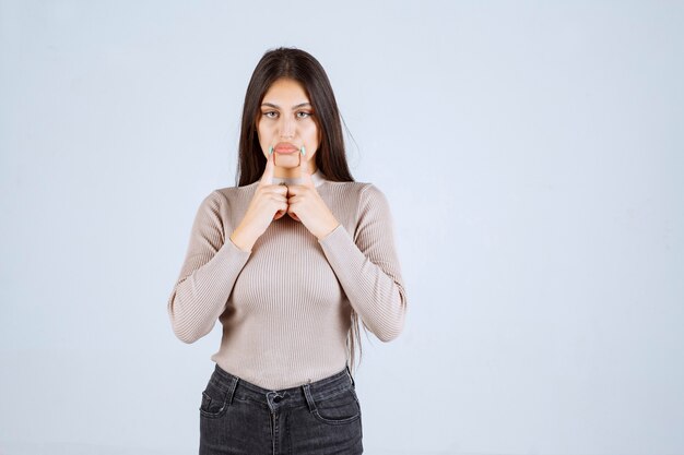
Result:
{"label": "beige ribbed long-sleeved sweater worn by the woman", "polygon": [[406,295],[384,193],[372,183],[329,181],[320,170],[311,178],[340,221],[334,230],[318,240],[285,215],[243,251],[229,236],[258,182],[215,190],[200,204],[168,299],[178,338],[193,343],[221,321],[211,359],[269,390],[344,369],[352,308],[384,342],[404,324]]}

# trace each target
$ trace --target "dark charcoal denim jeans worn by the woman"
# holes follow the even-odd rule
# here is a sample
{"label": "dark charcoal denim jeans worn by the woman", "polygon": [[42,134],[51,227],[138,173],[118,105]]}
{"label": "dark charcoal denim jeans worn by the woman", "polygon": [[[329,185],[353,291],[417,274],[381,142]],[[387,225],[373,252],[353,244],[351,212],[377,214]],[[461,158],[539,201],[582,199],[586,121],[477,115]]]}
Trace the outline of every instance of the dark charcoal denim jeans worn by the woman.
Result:
{"label": "dark charcoal denim jeans worn by the woman", "polygon": [[216,364],[199,410],[200,455],[363,453],[361,406],[349,368],[269,391]]}

